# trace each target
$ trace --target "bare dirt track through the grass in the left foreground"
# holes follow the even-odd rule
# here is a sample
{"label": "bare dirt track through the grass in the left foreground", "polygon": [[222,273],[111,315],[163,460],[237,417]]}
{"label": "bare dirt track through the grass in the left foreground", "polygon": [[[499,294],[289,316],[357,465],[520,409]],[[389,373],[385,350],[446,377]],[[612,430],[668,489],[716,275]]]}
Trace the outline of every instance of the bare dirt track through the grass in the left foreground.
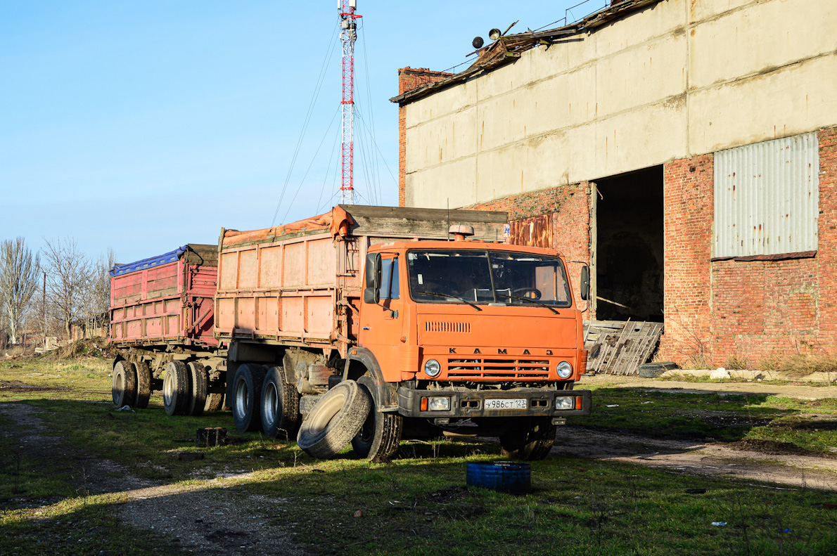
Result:
{"label": "bare dirt track through the grass in the left foreground", "polygon": [[[70,450],[58,436],[49,435],[32,406],[3,403],[0,415],[14,422],[0,434],[15,436],[20,449],[45,466],[54,467],[60,462],[62,471],[71,472],[80,492],[124,492],[128,502],[117,512],[131,527],[151,529],[173,545],[209,556],[307,554],[293,542],[290,527],[275,523],[276,508],[282,500],[244,495],[217,480],[200,487],[157,484],[131,475],[116,462]],[[56,454],[61,456],[57,460]]]}

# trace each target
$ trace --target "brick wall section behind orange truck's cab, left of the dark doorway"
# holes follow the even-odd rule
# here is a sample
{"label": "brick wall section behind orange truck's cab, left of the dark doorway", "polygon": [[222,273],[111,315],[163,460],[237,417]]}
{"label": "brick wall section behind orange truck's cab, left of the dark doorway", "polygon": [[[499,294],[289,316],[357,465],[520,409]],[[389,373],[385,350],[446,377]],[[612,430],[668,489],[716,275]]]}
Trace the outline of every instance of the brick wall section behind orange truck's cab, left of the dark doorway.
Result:
{"label": "brick wall section behind orange truck's cab, left of the dark doorway", "polygon": [[[502,211],[509,213],[511,222],[526,218],[549,215],[552,224],[552,248],[567,258],[567,272],[573,282],[574,294],[578,296],[578,276],[582,264],[572,261],[590,262],[590,188],[588,182],[530,191],[495,199],[470,207],[475,211]],[[585,304],[582,302],[582,307]],[[595,319],[595,314],[585,314],[586,319]]]}

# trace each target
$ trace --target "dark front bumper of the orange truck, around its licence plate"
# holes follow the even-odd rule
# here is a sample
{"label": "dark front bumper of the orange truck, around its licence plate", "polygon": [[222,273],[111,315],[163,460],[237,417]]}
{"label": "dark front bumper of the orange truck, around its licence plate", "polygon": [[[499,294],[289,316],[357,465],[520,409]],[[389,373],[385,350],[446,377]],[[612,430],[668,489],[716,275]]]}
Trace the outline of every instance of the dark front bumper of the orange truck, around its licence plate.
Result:
{"label": "dark front bumper of the orange truck, around its licence plate", "polygon": [[[422,411],[421,399],[449,397],[449,411]],[[556,409],[556,398],[573,398],[575,409]],[[485,409],[485,400],[526,400],[526,409]],[[581,402],[580,407],[578,402]],[[590,390],[413,390],[398,389],[398,413],[405,417],[569,417],[590,415]]]}

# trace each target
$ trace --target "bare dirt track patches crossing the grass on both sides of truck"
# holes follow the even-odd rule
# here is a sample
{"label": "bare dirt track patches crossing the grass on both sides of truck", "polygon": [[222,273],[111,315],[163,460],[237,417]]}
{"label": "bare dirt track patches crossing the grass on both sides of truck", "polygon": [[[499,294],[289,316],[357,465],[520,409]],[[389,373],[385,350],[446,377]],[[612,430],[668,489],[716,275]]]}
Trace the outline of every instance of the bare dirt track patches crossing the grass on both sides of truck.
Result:
{"label": "bare dirt track patches crossing the grass on both sides of truck", "polygon": [[[677,393],[774,394],[809,400],[837,396],[837,387],[833,386],[693,383],[617,376],[585,377],[579,386],[590,384]],[[117,512],[132,527],[153,530],[172,545],[194,553],[307,553],[305,547],[293,542],[292,526],[277,520],[280,513],[276,508],[287,503],[283,499],[247,495],[229,488],[229,482],[223,479],[202,486],[157,484],[131,475],[115,462],[95,460],[64,446],[59,437],[49,435],[37,411],[27,404],[0,404],[0,414],[14,422],[0,434],[15,436],[21,449],[39,461],[50,462],[55,454],[61,454],[60,461],[71,468],[80,489],[90,493],[124,492],[128,502]],[[740,444],[666,440],[570,425],[558,427],[552,453],[680,470],[694,474],[696,480],[701,476],[726,476],[777,483],[769,488],[837,490],[837,459],[769,453]]]}

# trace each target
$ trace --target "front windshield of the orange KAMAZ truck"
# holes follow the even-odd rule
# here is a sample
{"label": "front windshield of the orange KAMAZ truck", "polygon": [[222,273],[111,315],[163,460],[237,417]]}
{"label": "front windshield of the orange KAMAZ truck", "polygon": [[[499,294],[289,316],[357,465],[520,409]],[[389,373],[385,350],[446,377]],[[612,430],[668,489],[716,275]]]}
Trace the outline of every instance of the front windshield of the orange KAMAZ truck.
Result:
{"label": "front windshield of the orange KAMAZ truck", "polygon": [[439,249],[407,254],[410,294],[427,303],[569,307],[561,260],[529,253]]}

